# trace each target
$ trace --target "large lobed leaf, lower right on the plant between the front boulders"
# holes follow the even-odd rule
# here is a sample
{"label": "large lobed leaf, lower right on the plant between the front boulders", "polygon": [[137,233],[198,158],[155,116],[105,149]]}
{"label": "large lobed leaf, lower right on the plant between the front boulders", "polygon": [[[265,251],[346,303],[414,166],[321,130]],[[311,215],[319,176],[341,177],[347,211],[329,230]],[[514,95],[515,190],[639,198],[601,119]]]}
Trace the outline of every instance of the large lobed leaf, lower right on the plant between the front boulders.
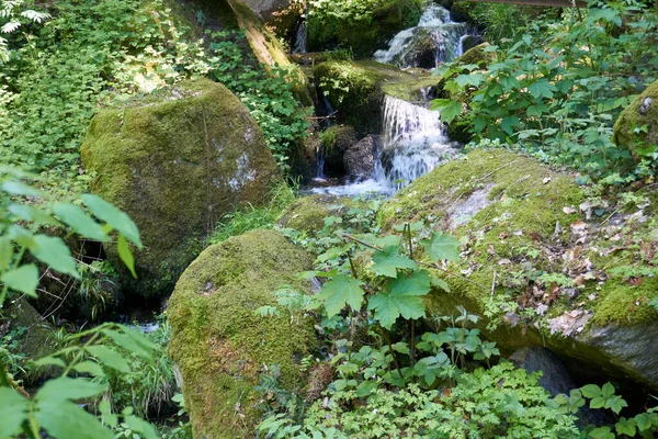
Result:
{"label": "large lobed leaf, lower right on the plant between the front boulders", "polygon": [[375,319],[384,328],[390,329],[400,315],[407,319],[423,317],[426,308],[420,296],[429,292],[430,275],[426,270],[400,274],[389,281],[383,292],[371,297],[367,307],[374,309]]}

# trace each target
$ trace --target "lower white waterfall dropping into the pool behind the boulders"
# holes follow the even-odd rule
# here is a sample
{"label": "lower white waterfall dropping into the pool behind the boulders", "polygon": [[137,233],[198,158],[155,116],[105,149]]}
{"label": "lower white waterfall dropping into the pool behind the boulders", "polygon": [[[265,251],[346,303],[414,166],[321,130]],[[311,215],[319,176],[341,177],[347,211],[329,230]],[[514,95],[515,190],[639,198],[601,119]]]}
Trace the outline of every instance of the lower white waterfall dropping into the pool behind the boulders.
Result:
{"label": "lower white waterfall dropping into the pool behind the boulders", "polygon": [[455,154],[438,111],[389,95],[384,105],[384,146],[375,180],[399,189]]}

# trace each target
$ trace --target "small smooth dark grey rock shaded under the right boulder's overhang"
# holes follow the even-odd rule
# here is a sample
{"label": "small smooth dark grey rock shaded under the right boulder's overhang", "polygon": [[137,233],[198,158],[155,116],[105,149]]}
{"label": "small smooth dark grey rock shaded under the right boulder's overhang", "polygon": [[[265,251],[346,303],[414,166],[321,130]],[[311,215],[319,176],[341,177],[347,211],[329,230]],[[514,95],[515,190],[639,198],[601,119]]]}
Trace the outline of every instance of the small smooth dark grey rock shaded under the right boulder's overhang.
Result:
{"label": "small smooth dark grey rock shaded under the right boulder's overhang", "polygon": [[540,385],[546,389],[552,396],[558,393],[568,395],[571,389],[576,389],[567,368],[546,348],[526,346],[514,351],[509,360],[517,368],[525,369],[527,373],[542,372]]}

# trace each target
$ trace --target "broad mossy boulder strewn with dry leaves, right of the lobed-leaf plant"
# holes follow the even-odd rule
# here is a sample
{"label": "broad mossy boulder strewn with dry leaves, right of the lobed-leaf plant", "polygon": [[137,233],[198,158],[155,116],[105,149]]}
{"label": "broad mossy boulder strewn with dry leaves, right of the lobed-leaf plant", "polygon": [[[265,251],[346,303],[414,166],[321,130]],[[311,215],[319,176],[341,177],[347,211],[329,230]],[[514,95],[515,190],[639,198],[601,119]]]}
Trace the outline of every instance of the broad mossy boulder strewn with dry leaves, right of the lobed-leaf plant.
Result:
{"label": "broad mossy boulder strewn with dry leaves, right of the lobed-leaf plant", "polygon": [[[480,329],[503,353],[542,345],[574,369],[588,364],[592,376],[658,389],[658,314],[647,305],[658,282],[614,274],[638,255],[609,239],[611,229],[600,227],[590,204],[568,176],[504,149],[483,149],[398,192],[381,223],[390,230],[424,221],[463,244],[464,260],[447,267],[453,274],[436,272],[451,292],[428,297],[433,314],[464,305],[486,316]],[[628,219],[615,232],[628,236],[615,239],[647,227]]]}

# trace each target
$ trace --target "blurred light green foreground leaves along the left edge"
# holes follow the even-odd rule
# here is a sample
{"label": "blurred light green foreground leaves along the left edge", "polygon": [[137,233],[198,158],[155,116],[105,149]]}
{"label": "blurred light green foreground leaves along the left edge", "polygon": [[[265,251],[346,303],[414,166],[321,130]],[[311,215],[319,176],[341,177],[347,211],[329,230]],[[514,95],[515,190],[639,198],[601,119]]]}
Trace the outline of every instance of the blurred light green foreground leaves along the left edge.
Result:
{"label": "blurred light green foreground leaves along the left edge", "polygon": [[[120,238],[125,239],[125,236],[137,248],[141,248],[139,232],[132,219],[97,196],[82,198],[87,211],[63,203],[53,209],[26,204],[26,199],[38,201],[43,194],[22,182],[21,179],[25,177],[15,169],[2,169],[0,308],[5,300],[18,293],[36,296],[39,273],[36,264],[24,262],[27,254],[48,269],[80,278],[76,261],[64,240],[39,233],[45,227],[65,228],[60,221],[68,225],[71,233],[94,235],[101,241],[113,239],[113,232],[116,230]],[[53,438],[71,438],[84,431],[90,438],[112,438],[106,426],[116,426],[121,417],[123,423],[145,438],[156,438],[154,428],[135,417],[132,408],[124,409],[120,416],[112,414],[107,403],[101,403],[101,423],[77,403],[99,397],[107,386],[104,378],[110,371],[131,372],[131,365],[120,350],[150,363],[158,348],[135,330],[113,323],[76,333],[70,339],[72,342],[69,346],[34,362],[36,367],[59,369],[61,374],[46,381],[32,398],[26,397],[10,374],[10,367],[15,369],[15,364],[8,364],[12,358],[0,356],[0,413],[3,417],[0,437],[9,438],[22,432],[29,438],[39,438],[41,432],[45,431]]]}

